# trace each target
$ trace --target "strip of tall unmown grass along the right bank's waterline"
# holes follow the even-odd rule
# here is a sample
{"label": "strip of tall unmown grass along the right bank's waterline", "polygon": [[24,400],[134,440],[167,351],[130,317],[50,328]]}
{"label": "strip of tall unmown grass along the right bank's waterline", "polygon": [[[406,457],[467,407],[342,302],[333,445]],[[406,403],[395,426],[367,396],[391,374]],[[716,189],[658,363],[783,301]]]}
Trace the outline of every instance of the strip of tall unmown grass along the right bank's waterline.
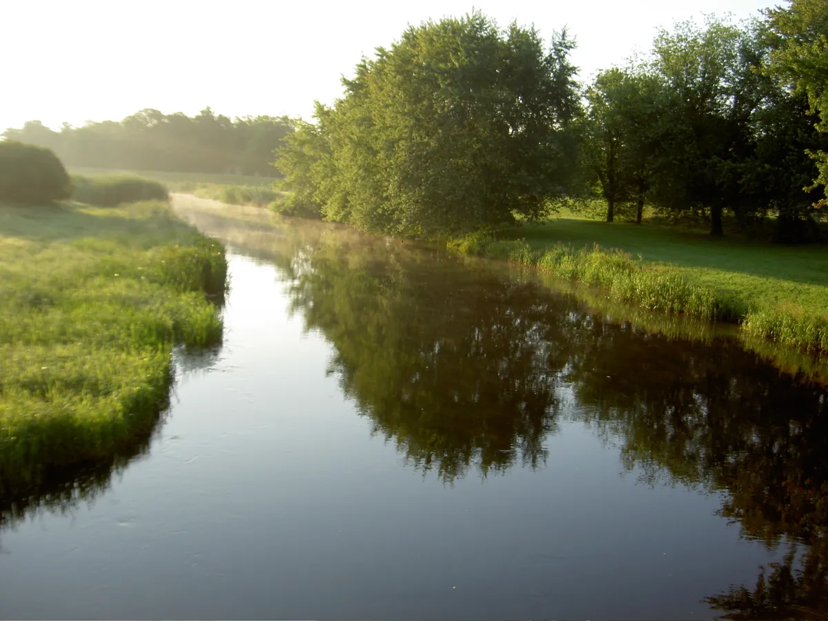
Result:
{"label": "strip of tall unmown grass along the right bank's waterline", "polygon": [[498,240],[473,233],[449,243],[460,253],[505,259],[562,280],[598,287],[615,301],[647,310],[687,315],[703,320],[738,323],[752,336],[800,349],[828,352],[828,318],[796,306],[758,306],[733,292],[688,277],[668,264],[645,262],[619,249],[573,247],[554,243],[532,248],[523,240]]}

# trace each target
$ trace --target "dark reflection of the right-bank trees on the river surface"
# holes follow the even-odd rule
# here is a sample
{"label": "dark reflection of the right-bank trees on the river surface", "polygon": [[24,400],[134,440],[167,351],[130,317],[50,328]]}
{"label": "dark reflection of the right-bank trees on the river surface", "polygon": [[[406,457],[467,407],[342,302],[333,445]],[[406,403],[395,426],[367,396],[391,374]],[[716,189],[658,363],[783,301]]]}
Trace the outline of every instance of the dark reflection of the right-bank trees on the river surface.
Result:
{"label": "dark reflection of the right-bank trees on the river surface", "polygon": [[674,338],[681,330],[609,320],[530,276],[316,226],[301,239],[288,227],[264,243],[243,233],[234,243],[281,267],[294,312],[335,346],[330,373],[412,465],[449,482],[469,469],[537,467],[567,412],[618,445],[644,482],[720,493],[720,515],[744,537],[787,546],[757,585],[711,595],[713,609],[732,619],[826,617],[828,399],[819,383],[705,326],[698,338]]}

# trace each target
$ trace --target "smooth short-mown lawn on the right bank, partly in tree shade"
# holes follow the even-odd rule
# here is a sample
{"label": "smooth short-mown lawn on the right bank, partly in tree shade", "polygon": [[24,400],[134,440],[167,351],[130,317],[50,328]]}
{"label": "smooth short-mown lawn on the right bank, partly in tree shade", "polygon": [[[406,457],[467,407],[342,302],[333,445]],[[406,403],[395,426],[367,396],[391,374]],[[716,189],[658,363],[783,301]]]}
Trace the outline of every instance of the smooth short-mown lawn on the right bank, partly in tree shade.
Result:
{"label": "smooth short-mown lawn on the right bank, partly in tree shade", "polygon": [[828,246],[789,247],[666,226],[551,219],[512,229],[537,250],[556,243],[598,243],[645,262],[670,264],[693,282],[738,296],[749,307],[802,311],[828,318]]}

